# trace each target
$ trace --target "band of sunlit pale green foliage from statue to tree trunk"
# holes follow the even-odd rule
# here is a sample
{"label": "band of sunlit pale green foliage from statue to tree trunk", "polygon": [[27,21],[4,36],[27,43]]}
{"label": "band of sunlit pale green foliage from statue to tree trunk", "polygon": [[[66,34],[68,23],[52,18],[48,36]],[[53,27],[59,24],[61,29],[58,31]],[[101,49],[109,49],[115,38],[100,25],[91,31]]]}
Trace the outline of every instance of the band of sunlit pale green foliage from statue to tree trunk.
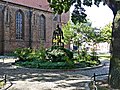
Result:
{"label": "band of sunlit pale green foliage from statue to tree trunk", "polygon": [[66,25],[63,25],[62,30],[64,34],[65,44],[69,44],[72,40],[74,44],[79,43],[90,43],[90,42],[111,42],[112,38],[112,23],[107,24],[103,28],[93,28],[92,23],[87,21],[87,23],[77,23],[71,24],[68,22]]}

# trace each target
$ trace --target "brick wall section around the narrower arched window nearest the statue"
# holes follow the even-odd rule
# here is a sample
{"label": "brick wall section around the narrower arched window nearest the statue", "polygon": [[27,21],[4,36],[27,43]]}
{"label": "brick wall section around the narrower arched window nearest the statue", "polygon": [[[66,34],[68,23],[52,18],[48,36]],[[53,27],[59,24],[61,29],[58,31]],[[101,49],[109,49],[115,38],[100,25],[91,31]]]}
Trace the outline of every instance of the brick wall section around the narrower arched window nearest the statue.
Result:
{"label": "brick wall section around the narrower arched window nearest the statue", "polygon": [[[40,21],[39,21],[40,15],[44,15],[46,18],[46,41],[43,41],[40,38]],[[36,10],[33,12],[32,20],[33,20],[32,22],[33,48],[39,48],[40,46],[44,46],[46,48],[50,47],[52,41],[51,38],[52,38],[52,28],[53,28],[52,14],[48,12]]]}

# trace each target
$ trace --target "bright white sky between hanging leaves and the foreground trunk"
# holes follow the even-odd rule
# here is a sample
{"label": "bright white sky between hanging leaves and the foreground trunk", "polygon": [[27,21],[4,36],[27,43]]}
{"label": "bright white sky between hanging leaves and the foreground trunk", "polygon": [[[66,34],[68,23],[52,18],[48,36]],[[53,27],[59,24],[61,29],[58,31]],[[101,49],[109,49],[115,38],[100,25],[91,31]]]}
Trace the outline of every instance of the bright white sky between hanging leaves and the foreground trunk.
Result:
{"label": "bright white sky between hanging leaves and the foreground trunk", "polygon": [[113,21],[113,13],[107,5],[100,4],[99,7],[92,5],[92,7],[85,7],[87,18],[92,21],[93,27],[104,27]]}

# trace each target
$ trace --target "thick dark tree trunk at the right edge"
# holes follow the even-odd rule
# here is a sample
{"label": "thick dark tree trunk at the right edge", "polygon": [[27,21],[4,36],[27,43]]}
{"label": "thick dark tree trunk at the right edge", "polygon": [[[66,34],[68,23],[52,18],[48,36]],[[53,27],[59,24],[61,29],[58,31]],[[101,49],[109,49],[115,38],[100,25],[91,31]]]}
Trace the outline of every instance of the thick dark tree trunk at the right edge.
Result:
{"label": "thick dark tree trunk at the right edge", "polygon": [[120,89],[120,5],[113,21],[112,58],[110,60],[109,84],[111,88]]}

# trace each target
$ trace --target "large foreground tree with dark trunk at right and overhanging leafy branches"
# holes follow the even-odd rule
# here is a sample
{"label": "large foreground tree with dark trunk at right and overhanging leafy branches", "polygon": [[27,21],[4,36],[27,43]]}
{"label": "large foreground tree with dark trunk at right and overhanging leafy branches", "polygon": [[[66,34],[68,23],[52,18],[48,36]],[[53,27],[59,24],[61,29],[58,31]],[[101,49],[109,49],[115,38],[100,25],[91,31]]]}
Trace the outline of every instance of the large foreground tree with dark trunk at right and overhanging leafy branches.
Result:
{"label": "large foreground tree with dark trunk at right and overhanging leafy branches", "polygon": [[86,22],[85,9],[83,5],[91,6],[93,3],[99,6],[104,1],[113,11],[114,20],[112,27],[112,58],[110,60],[110,78],[109,82],[112,88],[120,89],[120,0],[48,0],[55,13],[61,14],[69,11],[71,5],[75,5],[72,13],[72,21]]}

